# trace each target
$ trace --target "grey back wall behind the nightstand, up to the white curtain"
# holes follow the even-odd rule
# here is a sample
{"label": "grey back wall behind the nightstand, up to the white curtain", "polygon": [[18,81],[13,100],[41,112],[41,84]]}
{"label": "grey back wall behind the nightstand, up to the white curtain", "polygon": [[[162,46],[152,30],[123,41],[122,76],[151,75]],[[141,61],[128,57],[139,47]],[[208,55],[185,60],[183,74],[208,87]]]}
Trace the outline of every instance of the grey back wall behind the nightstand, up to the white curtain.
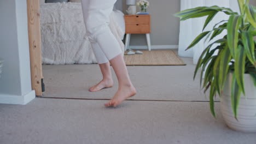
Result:
{"label": "grey back wall behind the nightstand, up to the white curtain", "polygon": [[[173,14],[180,10],[180,0],[151,0],[148,12],[151,14],[152,45],[178,45],[179,19]],[[124,13],[126,8],[123,1]],[[130,45],[146,45],[144,34],[132,34]]]}

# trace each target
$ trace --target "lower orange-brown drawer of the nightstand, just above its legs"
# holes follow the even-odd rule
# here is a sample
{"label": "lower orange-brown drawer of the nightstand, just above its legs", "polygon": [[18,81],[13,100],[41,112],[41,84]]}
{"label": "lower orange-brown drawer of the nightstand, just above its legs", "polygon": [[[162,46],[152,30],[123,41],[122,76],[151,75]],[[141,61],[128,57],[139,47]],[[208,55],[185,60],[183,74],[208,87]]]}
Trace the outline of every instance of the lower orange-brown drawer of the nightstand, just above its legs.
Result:
{"label": "lower orange-brown drawer of the nightstand, just above its legs", "polygon": [[139,34],[139,33],[150,33],[150,25],[145,24],[129,24],[125,25],[126,32],[131,34]]}

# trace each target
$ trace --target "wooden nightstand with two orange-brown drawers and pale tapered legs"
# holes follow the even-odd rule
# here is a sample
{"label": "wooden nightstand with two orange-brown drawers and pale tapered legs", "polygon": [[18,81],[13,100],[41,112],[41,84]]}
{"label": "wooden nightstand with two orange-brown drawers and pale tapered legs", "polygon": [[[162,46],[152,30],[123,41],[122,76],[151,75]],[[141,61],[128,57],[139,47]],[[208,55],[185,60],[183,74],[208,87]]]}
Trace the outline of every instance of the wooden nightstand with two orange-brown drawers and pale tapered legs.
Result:
{"label": "wooden nightstand with two orange-brown drawers and pale tapered legs", "polygon": [[129,47],[131,34],[146,34],[148,50],[151,51],[150,42],[150,15],[125,15],[125,50]]}

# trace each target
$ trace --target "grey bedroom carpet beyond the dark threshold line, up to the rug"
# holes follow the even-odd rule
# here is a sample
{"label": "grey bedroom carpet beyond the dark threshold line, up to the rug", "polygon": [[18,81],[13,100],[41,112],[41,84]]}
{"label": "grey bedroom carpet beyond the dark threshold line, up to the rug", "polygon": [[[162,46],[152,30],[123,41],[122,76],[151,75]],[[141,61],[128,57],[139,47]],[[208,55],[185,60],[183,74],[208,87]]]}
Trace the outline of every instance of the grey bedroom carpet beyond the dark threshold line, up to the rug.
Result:
{"label": "grey bedroom carpet beyond the dark threshold line, up to the rug", "polygon": [[[127,66],[131,81],[137,89],[134,100],[205,101],[208,94],[200,89],[199,77],[193,81],[193,59],[182,58],[184,66]],[[44,97],[77,99],[111,99],[118,89],[112,69],[114,87],[89,92],[102,79],[97,64],[43,65]]]}

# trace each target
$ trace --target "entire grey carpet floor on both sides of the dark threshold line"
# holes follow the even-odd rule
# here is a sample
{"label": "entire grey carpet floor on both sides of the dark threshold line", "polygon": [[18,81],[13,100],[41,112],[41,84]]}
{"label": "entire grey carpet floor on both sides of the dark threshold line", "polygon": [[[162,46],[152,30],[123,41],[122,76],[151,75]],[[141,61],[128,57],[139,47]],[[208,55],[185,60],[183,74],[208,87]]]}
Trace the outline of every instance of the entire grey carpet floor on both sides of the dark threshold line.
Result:
{"label": "entire grey carpet floor on both sides of the dark threshold line", "polygon": [[44,97],[0,104],[0,143],[256,144],[255,134],[226,127],[218,102],[213,118],[199,80],[192,79],[192,59],[183,61],[188,65],[127,67],[138,94],[115,108],[96,100],[113,96],[115,77],[113,88],[88,92],[101,80],[97,65],[43,65]]}

